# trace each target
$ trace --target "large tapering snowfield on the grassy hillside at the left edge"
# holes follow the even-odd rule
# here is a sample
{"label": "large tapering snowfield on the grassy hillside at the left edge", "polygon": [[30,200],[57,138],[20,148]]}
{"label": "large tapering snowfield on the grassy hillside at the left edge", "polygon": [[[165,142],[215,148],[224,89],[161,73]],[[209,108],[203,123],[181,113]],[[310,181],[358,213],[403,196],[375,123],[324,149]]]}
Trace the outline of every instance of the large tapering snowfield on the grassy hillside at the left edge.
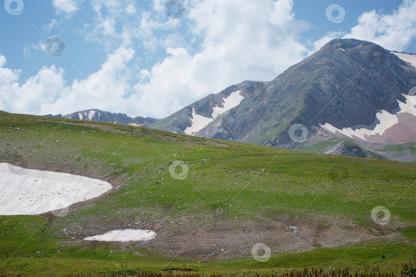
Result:
{"label": "large tapering snowfield on the grassy hillside at the left edge", "polygon": [[111,188],[110,183],[98,179],[0,163],[0,215],[61,210]]}

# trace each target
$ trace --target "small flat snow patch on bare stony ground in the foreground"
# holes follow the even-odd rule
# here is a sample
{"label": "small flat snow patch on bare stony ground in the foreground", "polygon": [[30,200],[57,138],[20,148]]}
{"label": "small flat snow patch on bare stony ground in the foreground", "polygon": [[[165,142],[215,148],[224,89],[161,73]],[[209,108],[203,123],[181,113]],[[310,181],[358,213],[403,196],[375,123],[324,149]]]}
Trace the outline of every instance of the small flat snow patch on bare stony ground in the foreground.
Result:
{"label": "small flat snow patch on bare stony ground in the foreground", "polygon": [[88,236],[84,241],[100,242],[131,242],[149,241],[156,237],[156,233],[150,230],[122,229],[112,230],[101,235]]}

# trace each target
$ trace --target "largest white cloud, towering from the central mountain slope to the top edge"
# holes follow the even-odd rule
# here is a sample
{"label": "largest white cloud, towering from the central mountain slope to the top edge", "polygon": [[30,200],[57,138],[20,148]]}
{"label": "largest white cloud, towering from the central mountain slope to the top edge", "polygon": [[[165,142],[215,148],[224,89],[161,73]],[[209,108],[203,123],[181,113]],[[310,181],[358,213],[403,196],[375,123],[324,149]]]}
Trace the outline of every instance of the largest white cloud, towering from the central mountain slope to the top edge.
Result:
{"label": "largest white cloud, towering from the central mountain slope to the top edge", "polygon": [[[160,8],[159,1],[154,5]],[[142,71],[144,81],[135,86],[141,110],[163,117],[244,80],[270,81],[301,61],[307,51],[296,42],[292,6],[291,0],[188,2],[184,16],[203,38],[201,50],[191,54],[182,47],[167,48],[163,62]],[[223,58],[210,57],[206,47],[214,41],[225,50]]]}

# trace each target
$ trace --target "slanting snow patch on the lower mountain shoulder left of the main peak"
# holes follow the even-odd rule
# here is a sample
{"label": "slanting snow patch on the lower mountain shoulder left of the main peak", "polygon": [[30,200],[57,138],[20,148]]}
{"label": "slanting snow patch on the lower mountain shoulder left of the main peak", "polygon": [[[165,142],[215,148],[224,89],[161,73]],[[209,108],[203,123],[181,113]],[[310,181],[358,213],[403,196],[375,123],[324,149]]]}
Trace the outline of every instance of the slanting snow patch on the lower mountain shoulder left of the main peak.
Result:
{"label": "slanting snow patch on the lower mountain shoulder left of the main peak", "polygon": [[184,132],[185,134],[188,135],[193,135],[195,132],[201,130],[202,128],[204,128],[206,125],[210,124],[212,121],[215,120],[215,118],[217,118],[218,115],[223,114],[224,112],[234,108],[235,106],[237,106],[238,104],[240,104],[241,100],[244,99],[244,96],[240,95],[240,91],[234,91],[230,94],[230,96],[226,97],[226,98],[222,98],[224,100],[224,103],[222,103],[222,105],[224,106],[223,108],[221,107],[214,107],[214,111],[211,113],[212,117],[205,117],[199,114],[195,113],[195,109],[192,109],[192,125],[191,127],[187,127]]}

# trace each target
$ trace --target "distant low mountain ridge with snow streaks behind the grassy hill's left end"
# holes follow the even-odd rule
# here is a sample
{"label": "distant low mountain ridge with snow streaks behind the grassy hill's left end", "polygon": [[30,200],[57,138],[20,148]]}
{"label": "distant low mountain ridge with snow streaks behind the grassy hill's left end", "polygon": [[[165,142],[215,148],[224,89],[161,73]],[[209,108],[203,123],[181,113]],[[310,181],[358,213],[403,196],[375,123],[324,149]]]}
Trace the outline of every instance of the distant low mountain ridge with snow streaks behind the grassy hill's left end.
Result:
{"label": "distant low mountain ridge with snow streaks behind the grassy hill's left end", "polygon": [[125,113],[111,113],[111,112],[102,111],[99,109],[89,109],[89,110],[84,110],[84,111],[73,112],[73,113],[66,114],[66,115],[47,114],[46,116],[71,118],[71,119],[77,119],[77,120],[117,123],[117,124],[123,124],[123,125],[142,126],[142,127],[159,121],[152,117],[136,116],[132,118],[130,116],[127,116]]}

